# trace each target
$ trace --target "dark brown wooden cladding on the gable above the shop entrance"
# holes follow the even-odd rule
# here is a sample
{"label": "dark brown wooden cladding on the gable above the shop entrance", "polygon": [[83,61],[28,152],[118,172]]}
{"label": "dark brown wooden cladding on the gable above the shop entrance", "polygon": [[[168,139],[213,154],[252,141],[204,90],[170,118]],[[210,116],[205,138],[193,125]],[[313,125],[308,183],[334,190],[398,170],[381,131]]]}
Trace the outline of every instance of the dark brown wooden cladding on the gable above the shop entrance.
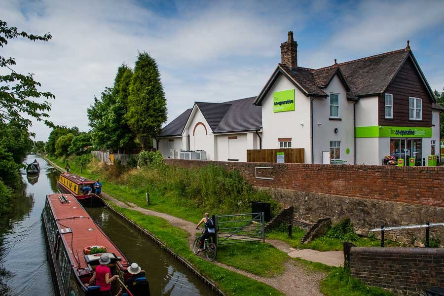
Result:
{"label": "dark brown wooden cladding on the gable above the shop entrance", "polygon": [[[385,118],[385,94],[380,94],[378,98],[379,125],[432,126],[432,98],[411,58],[407,58],[385,93],[393,95],[393,119]],[[408,118],[409,97],[422,99],[422,120]]]}

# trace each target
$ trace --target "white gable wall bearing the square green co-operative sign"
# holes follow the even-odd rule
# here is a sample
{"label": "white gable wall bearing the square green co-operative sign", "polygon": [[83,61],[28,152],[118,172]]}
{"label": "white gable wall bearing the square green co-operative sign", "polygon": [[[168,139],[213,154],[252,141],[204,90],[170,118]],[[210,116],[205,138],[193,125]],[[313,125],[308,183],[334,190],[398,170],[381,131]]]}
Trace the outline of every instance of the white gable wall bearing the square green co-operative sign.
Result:
{"label": "white gable wall bearing the square green co-operative sign", "polygon": [[[273,93],[288,89],[295,89],[295,111],[273,112]],[[262,101],[262,148],[279,148],[278,138],[292,138],[292,148],[304,148],[305,163],[311,163],[310,115],[310,99],[279,75]]]}

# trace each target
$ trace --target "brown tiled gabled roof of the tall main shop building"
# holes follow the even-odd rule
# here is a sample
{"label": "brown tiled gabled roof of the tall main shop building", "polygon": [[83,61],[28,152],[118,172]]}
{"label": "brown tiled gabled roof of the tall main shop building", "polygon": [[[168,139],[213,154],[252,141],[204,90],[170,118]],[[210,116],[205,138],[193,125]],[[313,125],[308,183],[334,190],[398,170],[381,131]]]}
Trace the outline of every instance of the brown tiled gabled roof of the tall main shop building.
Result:
{"label": "brown tiled gabled roof of the tall main shop building", "polygon": [[434,100],[432,89],[413,53],[409,48],[403,48],[344,63],[335,63],[320,69],[302,67],[291,69],[287,65],[279,64],[260,92],[255,104],[261,104],[279,74],[285,74],[305,96],[326,96],[323,90],[336,74],[347,89],[347,99],[356,100],[358,97],[383,93],[408,58],[412,59]]}

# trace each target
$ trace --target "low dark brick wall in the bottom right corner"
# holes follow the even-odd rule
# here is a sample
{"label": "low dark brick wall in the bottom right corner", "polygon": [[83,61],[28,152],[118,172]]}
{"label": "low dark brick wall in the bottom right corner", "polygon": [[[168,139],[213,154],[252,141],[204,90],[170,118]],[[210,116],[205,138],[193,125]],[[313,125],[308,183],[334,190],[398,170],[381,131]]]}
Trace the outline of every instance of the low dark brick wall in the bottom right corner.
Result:
{"label": "low dark brick wall in the bottom right corner", "polygon": [[444,287],[444,249],[353,247],[350,273],[399,295],[422,295],[433,286]]}

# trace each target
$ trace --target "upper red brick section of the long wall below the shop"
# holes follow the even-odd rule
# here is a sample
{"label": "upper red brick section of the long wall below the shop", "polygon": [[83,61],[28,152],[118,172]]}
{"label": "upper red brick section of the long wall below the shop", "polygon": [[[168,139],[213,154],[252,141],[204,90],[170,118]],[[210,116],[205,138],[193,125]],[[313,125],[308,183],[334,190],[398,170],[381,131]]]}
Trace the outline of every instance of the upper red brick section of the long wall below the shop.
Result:
{"label": "upper red brick section of the long wall below the shop", "polygon": [[[251,184],[368,199],[444,207],[444,169],[363,165],[276,164],[165,159],[167,164],[195,167],[214,163],[238,169]],[[258,177],[274,180],[257,179]]]}

